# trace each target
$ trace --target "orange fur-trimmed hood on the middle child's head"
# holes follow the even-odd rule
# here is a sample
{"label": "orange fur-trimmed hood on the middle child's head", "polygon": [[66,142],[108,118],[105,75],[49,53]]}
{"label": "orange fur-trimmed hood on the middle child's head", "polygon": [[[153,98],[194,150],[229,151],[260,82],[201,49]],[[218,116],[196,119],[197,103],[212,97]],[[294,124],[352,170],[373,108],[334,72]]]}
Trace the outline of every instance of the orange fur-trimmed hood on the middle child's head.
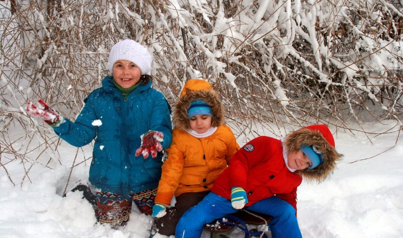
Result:
{"label": "orange fur-trimmed hood on the middle child's head", "polygon": [[217,127],[224,124],[224,110],[218,94],[205,80],[188,80],[180,93],[179,99],[173,108],[173,123],[175,128],[190,130],[190,123],[187,117],[187,109],[190,102],[203,100],[212,109],[212,126]]}

